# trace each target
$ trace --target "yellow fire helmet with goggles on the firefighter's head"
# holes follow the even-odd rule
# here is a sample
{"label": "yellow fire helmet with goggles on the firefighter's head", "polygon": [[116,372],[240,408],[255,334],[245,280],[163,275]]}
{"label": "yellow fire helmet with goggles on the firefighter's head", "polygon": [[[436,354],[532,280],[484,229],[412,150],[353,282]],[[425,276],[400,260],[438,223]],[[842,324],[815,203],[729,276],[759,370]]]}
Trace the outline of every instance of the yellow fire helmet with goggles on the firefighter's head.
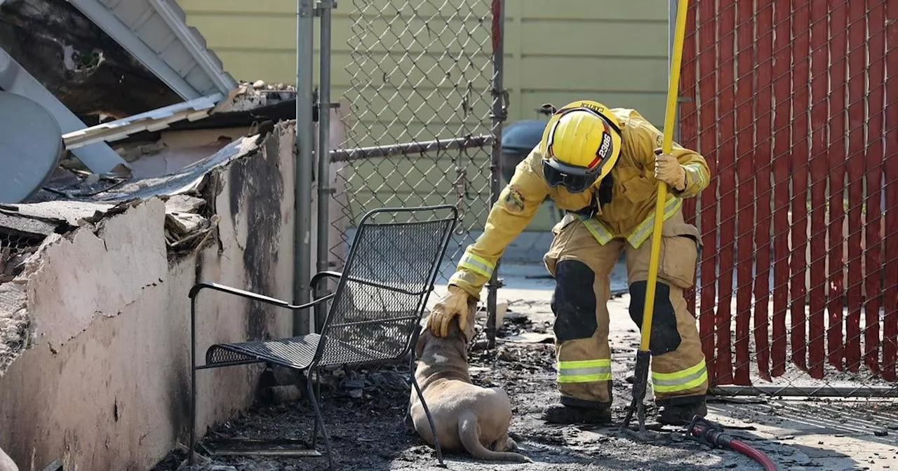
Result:
{"label": "yellow fire helmet with goggles on the firefighter's head", "polygon": [[579,100],[555,111],[540,143],[551,187],[580,193],[601,181],[621,154],[621,127],[602,103]]}

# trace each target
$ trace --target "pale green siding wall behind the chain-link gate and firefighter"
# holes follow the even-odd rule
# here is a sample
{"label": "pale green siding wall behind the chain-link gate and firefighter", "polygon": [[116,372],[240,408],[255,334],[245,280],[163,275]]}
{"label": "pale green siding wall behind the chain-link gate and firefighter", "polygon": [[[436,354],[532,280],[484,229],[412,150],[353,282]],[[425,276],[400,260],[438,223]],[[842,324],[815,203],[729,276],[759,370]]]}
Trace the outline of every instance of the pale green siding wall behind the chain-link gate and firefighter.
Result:
{"label": "pale green siding wall behind the chain-link gate and firefighter", "polygon": [[[405,0],[395,1],[406,3]],[[235,78],[250,82],[261,79],[268,83],[295,83],[295,0],[179,0],[179,4],[187,12],[188,23],[202,32]],[[358,31],[358,26],[349,18],[352,8],[353,2],[344,0],[333,13],[331,86],[334,97],[345,92],[353,75],[358,73],[348,67],[352,60],[348,39],[355,34],[353,28]],[[451,51],[457,50],[454,31],[462,28],[469,31],[480,28],[487,36],[478,36],[478,39],[487,39],[489,32],[477,24],[476,17],[487,16],[489,2],[484,1],[476,8],[478,11],[467,20],[450,18],[451,13],[444,14],[448,19],[438,28],[431,28],[438,35],[437,44],[445,44]],[[426,9],[433,10],[434,6],[425,4],[418,13],[436,13]],[[399,27],[397,22],[391,25],[390,20],[383,18],[373,22],[370,31],[376,33],[392,28],[399,33],[408,23],[405,20]],[[423,26],[423,23],[416,24],[411,20],[409,30],[416,31]],[[509,122],[537,118],[534,109],[546,102],[559,106],[587,98],[602,101],[610,107],[639,109],[660,127],[664,120],[668,74],[667,36],[667,2],[661,0],[507,0],[505,86],[509,92]],[[373,38],[374,35],[370,36],[365,43],[371,45],[378,57],[396,58],[405,48],[421,50],[418,42],[409,40],[409,36],[398,42],[392,37],[392,40],[385,38],[381,42],[373,41]],[[318,50],[316,38],[316,54]],[[489,54],[489,40],[485,41],[480,54],[484,58]],[[416,67],[409,67],[411,82],[422,78],[423,71],[436,65],[437,57],[436,51],[428,53],[418,59]],[[317,61],[315,64],[317,68]],[[474,89],[488,90],[487,77],[489,73],[477,77],[472,83]],[[373,74],[371,80],[378,83],[382,79]],[[395,77],[391,80],[395,81]],[[406,85],[401,87],[407,88]],[[476,105],[476,115],[482,117],[489,113],[488,100]],[[400,109],[401,105],[397,106],[395,102],[390,103],[392,116],[399,109],[400,121],[405,124],[386,126],[382,122],[383,116],[377,117],[378,110],[386,105],[385,100],[374,96],[364,107],[352,109],[354,116],[370,127],[374,135],[383,135],[377,139],[379,144],[409,141],[414,137],[431,139],[434,134],[450,137],[445,134],[452,134],[449,129],[462,128],[465,123],[472,127],[471,118],[459,116],[455,107],[449,104],[435,103],[434,110],[428,108],[422,113],[410,108]],[[447,123],[447,130],[437,133],[432,125],[427,126],[427,121]],[[374,138],[363,144],[375,144]],[[390,168],[373,172],[372,179],[383,181],[367,181],[366,188],[356,188],[357,200],[364,203],[364,199],[375,197],[384,203],[413,205],[435,202],[441,198],[436,195],[453,194],[455,174],[449,167],[439,165],[446,167],[445,175],[433,172],[422,176],[411,169],[409,161],[401,162],[396,171],[392,171],[392,162],[369,162],[365,167],[389,165]],[[478,161],[469,167],[470,175],[472,170],[486,169],[488,165]],[[407,183],[409,175],[419,177],[413,186]],[[476,191],[489,192],[484,182],[486,179],[476,179],[471,186]],[[367,189],[378,187],[376,194]],[[394,192],[397,194],[393,195]],[[376,204],[371,203],[368,208],[372,205]],[[362,209],[356,207],[357,212]],[[485,209],[474,206],[469,208],[469,214],[485,214]],[[528,230],[547,230],[551,221],[549,211],[544,207]]]}

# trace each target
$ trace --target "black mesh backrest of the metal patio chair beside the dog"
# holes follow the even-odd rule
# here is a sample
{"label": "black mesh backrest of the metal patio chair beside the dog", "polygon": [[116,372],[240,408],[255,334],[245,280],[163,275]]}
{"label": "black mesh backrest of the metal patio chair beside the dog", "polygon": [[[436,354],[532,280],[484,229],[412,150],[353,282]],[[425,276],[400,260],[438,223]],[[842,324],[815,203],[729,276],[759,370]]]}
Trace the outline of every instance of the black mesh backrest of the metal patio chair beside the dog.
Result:
{"label": "black mesh backrest of the metal patio chair beside the dog", "polygon": [[453,205],[365,214],[321,327],[320,364],[398,359],[409,351],[457,219]]}

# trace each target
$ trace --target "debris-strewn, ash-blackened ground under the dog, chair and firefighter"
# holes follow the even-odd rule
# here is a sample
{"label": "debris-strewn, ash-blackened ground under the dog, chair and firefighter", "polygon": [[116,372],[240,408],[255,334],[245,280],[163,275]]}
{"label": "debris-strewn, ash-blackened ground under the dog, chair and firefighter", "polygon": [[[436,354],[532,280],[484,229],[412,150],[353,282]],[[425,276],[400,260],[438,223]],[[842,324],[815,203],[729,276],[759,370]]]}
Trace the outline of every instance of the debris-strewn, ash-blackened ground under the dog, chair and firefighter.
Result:
{"label": "debris-strewn, ash-blackened ground under the dog, chair and firefighter", "polygon": [[[505,388],[515,416],[510,434],[531,464],[484,463],[464,455],[447,455],[449,469],[637,470],[637,469],[762,469],[733,451],[709,449],[682,440],[646,444],[630,440],[617,426],[555,426],[540,419],[542,409],[557,400],[554,352],[551,345],[552,281],[538,278],[541,266],[506,266],[506,288],[500,300],[506,312],[497,348],[485,350],[475,339],[471,375],[475,384]],[[612,291],[620,288],[612,281]],[[626,288],[626,282],[623,282]],[[439,287],[430,304],[445,287]],[[629,297],[609,303],[613,365],[614,423],[620,424],[629,404],[638,331],[629,318]],[[479,320],[480,325],[483,319]],[[338,371],[325,378],[325,423],[340,469],[439,469],[433,449],[403,423],[409,385],[408,370]],[[346,385],[365,384],[364,391]],[[355,386],[353,387],[355,388]],[[649,391],[647,403],[651,404]],[[649,406],[649,418],[654,407]],[[768,454],[779,469],[841,471],[898,469],[898,402],[894,400],[811,400],[779,397],[709,398],[709,419],[723,424],[738,440]],[[259,406],[244,417],[210,432],[217,437],[304,436],[312,425],[304,402]],[[319,449],[323,449],[319,445]],[[172,452],[159,471],[187,469],[183,453]],[[195,470],[325,469],[322,458],[216,458]]]}

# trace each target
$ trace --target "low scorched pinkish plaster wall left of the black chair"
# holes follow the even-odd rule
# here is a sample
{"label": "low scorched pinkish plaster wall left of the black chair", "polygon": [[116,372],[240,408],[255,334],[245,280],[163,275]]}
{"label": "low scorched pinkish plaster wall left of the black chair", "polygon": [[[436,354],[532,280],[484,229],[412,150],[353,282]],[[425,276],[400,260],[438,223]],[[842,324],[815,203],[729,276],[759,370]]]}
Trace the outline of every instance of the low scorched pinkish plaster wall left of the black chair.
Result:
{"label": "low scorched pinkish plaster wall left of the black chair", "polygon": [[[208,237],[189,249],[172,253],[169,237],[184,201],[142,197],[49,234],[22,274],[0,284],[0,315],[15,314],[26,333],[0,370],[0,449],[19,467],[59,459],[65,469],[148,469],[186,443],[190,286],[291,296],[293,135],[279,124],[245,138],[238,156],[192,187],[206,203],[197,215]],[[202,292],[198,362],[215,342],[289,334],[289,312],[251,322],[254,313],[242,299]],[[198,371],[198,431],[249,406],[258,372]]]}

